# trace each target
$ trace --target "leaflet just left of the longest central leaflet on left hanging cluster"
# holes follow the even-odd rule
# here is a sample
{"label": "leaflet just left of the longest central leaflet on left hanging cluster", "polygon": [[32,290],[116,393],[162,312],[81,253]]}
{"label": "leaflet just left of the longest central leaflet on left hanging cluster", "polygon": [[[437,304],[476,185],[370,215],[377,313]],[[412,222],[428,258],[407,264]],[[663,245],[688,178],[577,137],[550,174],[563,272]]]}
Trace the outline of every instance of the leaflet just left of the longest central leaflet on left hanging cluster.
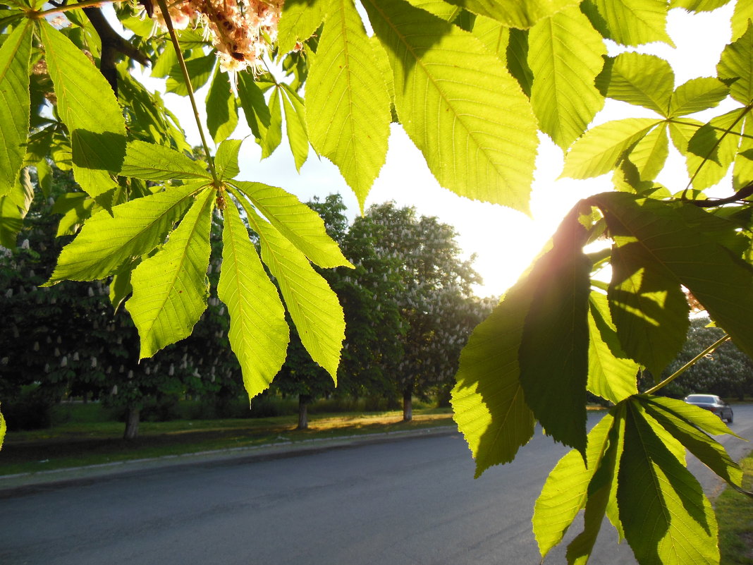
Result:
{"label": "leaflet just left of the longest central leaflet on left hanging cluster", "polygon": [[126,308],[139,330],[139,359],[191,335],[206,310],[214,204],[215,191],[205,189],[163,248],[133,270],[133,295]]}

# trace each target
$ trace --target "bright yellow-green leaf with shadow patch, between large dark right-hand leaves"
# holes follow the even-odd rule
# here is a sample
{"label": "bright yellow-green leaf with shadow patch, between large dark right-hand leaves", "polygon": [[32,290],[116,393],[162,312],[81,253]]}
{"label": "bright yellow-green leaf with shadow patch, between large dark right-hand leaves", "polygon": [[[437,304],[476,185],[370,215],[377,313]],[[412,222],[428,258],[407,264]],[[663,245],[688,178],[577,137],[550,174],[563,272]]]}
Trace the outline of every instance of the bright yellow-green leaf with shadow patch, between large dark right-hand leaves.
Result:
{"label": "bright yellow-green leaf with shadow patch, between large dark right-hand leaves", "polygon": [[607,297],[600,292],[590,294],[588,329],[588,390],[614,404],[638,394],[639,365],[623,352]]}

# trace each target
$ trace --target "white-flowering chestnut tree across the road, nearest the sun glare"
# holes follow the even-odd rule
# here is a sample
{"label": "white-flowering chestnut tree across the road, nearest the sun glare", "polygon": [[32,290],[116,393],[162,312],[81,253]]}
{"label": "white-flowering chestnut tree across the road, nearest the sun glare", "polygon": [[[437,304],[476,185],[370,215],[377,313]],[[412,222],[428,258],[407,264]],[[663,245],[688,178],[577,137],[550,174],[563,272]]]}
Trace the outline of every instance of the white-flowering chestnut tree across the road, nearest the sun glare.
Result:
{"label": "white-flowering chestnut tree across the road, nearest the sun glare", "polygon": [[403,419],[411,420],[413,395],[425,397],[452,380],[473,327],[466,321],[482,319],[458,316],[469,310],[471,285],[480,277],[473,258],[460,258],[455,229],[437,218],[391,202],[371,206],[358,222],[378,242],[377,254],[397,261],[401,288],[395,300],[406,329],[392,380],[403,400]]}

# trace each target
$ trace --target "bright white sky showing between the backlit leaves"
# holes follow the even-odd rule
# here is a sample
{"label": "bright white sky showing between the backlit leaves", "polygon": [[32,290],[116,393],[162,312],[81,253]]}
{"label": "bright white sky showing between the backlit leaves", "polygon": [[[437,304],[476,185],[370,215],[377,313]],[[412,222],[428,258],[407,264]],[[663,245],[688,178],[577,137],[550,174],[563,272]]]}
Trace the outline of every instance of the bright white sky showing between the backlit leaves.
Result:
{"label": "bright white sky showing between the backlit leaves", "polygon": [[[677,48],[651,44],[640,50],[669,60],[675,70],[675,86],[691,78],[713,76],[721,50],[730,40],[731,14],[732,5],[712,14],[701,15],[672,10],[669,13],[668,32]],[[617,50],[610,54],[617,54]],[[178,114],[189,138],[198,142],[187,100],[168,94],[166,102]],[[643,116],[654,115],[637,106],[608,101],[594,122]],[[245,127],[242,117],[240,121]],[[239,127],[233,138],[245,135],[248,135],[248,130]],[[429,172],[420,151],[401,127],[393,125],[386,165],[373,185],[367,206],[395,200],[400,206],[416,206],[419,214],[434,215],[444,223],[452,224],[459,232],[459,243],[465,255],[477,255],[474,267],[484,281],[483,286],[477,288],[477,294],[501,295],[528,266],[556,230],[560,219],[578,200],[611,188],[608,176],[588,181],[558,179],[561,171],[562,151],[546,136],[542,136],[536,160],[532,216],[529,218],[503,206],[468,200],[441,188]],[[298,175],[286,139],[265,160],[261,160],[261,149],[252,139],[245,142],[241,151],[240,178],[285,188],[304,202],[315,195],[323,198],[331,193],[340,193],[349,206],[351,218],[358,214],[355,195],[343,181],[337,167],[324,158],[319,160],[310,151],[309,159]],[[668,166],[659,180],[672,191],[684,188],[687,176],[678,155],[670,155]]]}

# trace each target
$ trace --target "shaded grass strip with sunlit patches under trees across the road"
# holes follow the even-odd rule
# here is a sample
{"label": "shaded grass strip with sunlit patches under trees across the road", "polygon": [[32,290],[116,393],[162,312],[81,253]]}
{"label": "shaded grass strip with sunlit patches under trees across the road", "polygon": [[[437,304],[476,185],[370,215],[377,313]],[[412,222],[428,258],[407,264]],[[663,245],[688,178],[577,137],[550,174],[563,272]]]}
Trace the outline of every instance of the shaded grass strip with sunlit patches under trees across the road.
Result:
{"label": "shaded grass strip with sunlit patches under trees across the road", "polygon": [[294,429],[297,417],[293,416],[145,422],[139,427],[139,438],[132,441],[121,438],[123,423],[64,423],[52,429],[9,432],[0,450],[0,476],[453,424],[449,408],[414,411],[412,422],[401,418],[401,411],[313,415],[306,430]]}

